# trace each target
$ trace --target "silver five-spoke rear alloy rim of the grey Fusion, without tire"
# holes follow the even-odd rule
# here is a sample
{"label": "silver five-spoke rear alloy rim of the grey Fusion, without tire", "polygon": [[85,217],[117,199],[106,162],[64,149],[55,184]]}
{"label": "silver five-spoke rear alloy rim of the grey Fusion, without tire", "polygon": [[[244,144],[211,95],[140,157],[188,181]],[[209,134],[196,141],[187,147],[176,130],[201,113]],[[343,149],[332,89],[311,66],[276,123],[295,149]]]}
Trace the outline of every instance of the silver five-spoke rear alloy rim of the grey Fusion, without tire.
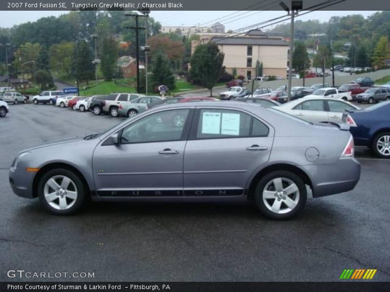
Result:
{"label": "silver five-spoke rear alloy rim of the grey Fusion, without tire", "polygon": [[299,202],[298,186],[287,178],[275,178],[263,190],[263,202],[273,213],[291,212]]}

